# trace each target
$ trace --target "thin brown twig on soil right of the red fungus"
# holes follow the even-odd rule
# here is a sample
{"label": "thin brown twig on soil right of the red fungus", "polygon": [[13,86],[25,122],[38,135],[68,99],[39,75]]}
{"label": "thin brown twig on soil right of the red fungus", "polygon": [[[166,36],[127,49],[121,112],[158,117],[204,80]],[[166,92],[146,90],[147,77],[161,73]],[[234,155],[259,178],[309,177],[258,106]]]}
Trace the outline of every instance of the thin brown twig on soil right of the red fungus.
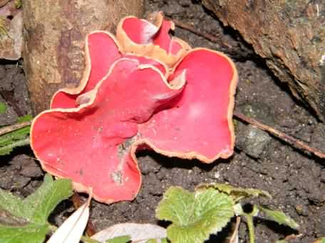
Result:
{"label": "thin brown twig on soil right of the red fungus", "polygon": [[296,148],[304,149],[305,151],[309,151],[310,153],[314,153],[315,156],[319,158],[325,158],[325,153],[317,150],[316,148],[313,148],[304,142],[295,139],[292,136],[289,136],[287,134],[284,134],[282,131],[278,131],[277,129],[272,128],[271,126],[267,126],[262,124],[261,122],[252,119],[250,117],[246,117],[244,114],[241,114],[239,112],[234,112],[234,117],[236,117],[239,120],[245,121],[249,124],[252,124],[253,126],[256,126],[257,128],[269,132],[269,134],[272,134],[274,136],[277,136],[277,138],[281,139],[282,141],[287,142],[288,144],[295,146]]}

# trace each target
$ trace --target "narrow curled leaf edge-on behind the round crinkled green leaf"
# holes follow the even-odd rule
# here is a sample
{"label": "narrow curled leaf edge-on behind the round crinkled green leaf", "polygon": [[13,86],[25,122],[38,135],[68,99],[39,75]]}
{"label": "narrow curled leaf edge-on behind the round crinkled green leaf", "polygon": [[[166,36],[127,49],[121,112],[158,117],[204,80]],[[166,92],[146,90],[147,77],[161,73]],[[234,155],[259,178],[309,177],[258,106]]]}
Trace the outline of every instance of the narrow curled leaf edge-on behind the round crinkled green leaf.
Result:
{"label": "narrow curled leaf edge-on behind the round crinkled green leaf", "polygon": [[198,185],[196,190],[206,190],[207,188],[215,188],[216,190],[219,190],[220,193],[226,193],[232,196],[236,201],[242,198],[259,197],[259,196],[272,198],[272,196],[265,190],[258,190],[254,188],[236,188],[232,185],[222,184],[222,183]]}

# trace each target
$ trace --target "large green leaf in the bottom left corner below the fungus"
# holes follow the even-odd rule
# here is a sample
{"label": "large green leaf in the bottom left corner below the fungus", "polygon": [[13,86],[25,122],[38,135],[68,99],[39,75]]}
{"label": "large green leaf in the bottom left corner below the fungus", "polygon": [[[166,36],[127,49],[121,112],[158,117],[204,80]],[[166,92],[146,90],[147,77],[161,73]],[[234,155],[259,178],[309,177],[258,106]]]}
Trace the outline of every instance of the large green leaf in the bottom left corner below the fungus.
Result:
{"label": "large green leaf in the bottom left corner below the fungus", "polygon": [[71,195],[71,180],[53,181],[51,175],[45,175],[43,184],[25,199],[0,189],[0,242],[43,242],[48,215]]}

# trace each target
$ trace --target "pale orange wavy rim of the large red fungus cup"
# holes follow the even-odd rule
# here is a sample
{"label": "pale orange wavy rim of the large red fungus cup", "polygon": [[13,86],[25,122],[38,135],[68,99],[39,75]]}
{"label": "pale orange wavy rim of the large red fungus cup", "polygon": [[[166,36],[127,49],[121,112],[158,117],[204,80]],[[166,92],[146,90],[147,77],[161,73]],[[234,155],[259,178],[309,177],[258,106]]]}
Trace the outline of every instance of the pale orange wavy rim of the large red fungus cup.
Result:
{"label": "pale orange wavy rim of the large red fungus cup", "polygon": [[[230,87],[229,87],[229,104],[228,104],[227,120],[228,120],[228,127],[229,127],[229,131],[230,131],[230,135],[231,135],[231,148],[233,148],[234,147],[234,124],[232,122],[232,114],[233,114],[233,109],[234,109],[234,94],[236,92],[236,86],[237,86],[237,82],[238,82],[237,69],[236,69],[234,63],[232,62],[232,60],[230,58],[228,58],[227,55],[225,55],[224,53],[220,53],[219,51],[210,50],[210,49],[207,49],[207,48],[195,48],[195,49],[190,50],[190,53],[193,52],[193,51],[196,51],[196,50],[208,50],[208,51],[210,51],[212,53],[216,53],[217,55],[220,55],[223,58],[226,58],[226,60],[228,61],[228,63],[232,67],[233,76],[232,76],[232,80],[230,81]],[[185,57],[183,57],[183,58],[185,58]],[[81,104],[79,107],[76,107],[76,108],[68,108],[68,109],[56,108],[56,109],[46,110],[46,111],[41,112],[40,114],[38,114],[35,117],[35,119],[33,119],[33,124],[38,119],[38,117],[41,116],[41,114],[45,114],[45,113],[48,113],[48,112],[65,112],[65,113],[66,112],[78,112],[80,109],[83,109],[84,107],[87,107],[89,104],[92,104],[93,101],[95,100],[98,88],[100,87],[103,80],[105,80],[110,75],[110,72],[112,72],[115,64],[118,63],[120,60],[124,60],[124,59],[137,61],[137,60],[132,59],[132,58],[120,58],[120,59],[116,60],[115,63],[113,63],[113,65],[111,65],[111,67],[110,67],[110,69],[108,71],[108,74],[106,74],[105,77],[103,77],[103,79],[100,80],[100,82],[98,82],[96,87],[94,87],[94,90],[96,90],[96,92],[90,92],[90,95],[89,95],[90,100],[89,100],[89,102]],[[172,69],[172,72],[174,72],[175,68],[177,68],[177,65],[179,65],[180,62],[182,62],[182,59],[178,61],[178,63]],[[181,87],[178,87],[180,85],[177,85],[177,87],[171,87],[170,84],[167,82],[166,77],[164,75],[162,75],[162,72],[160,72],[160,70],[158,70],[158,68],[155,68],[153,65],[142,65],[142,67],[143,68],[152,68],[153,70],[156,70],[160,74],[160,76],[162,77],[163,82],[165,82],[167,87],[170,87],[172,90],[177,90],[177,89],[181,88],[182,85],[185,85],[185,80],[183,80],[183,82],[180,83]],[[33,133],[33,124],[31,124],[31,134]],[[146,144],[151,149],[153,149],[153,151],[155,151],[156,153],[160,153],[160,154],[168,156],[168,157],[177,157],[177,158],[185,158],[185,159],[197,158],[198,160],[200,160],[200,161],[202,161],[204,163],[212,163],[213,161],[217,160],[217,158],[229,158],[229,156],[232,156],[232,151],[230,151],[230,153],[225,153],[225,152],[221,151],[220,153],[217,153],[217,155],[212,157],[212,158],[207,158],[206,156],[203,156],[202,154],[197,153],[195,151],[190,151],[190,152],[187,152],[187,153],[177,152],[177,151],[170,152],[170,151],[165,151],[165,150],[162,150],[162,149],[159,149],[159,148],[155,147],[150,141],[148,141],[148,139],[139,139],[138,141],[133,143],[131,148],[130,148],[130,154],[131,154],[131,156],[133,158],[133,161],[135,162],[135,164],[137,166],[138,171],[140,171],[140,169],[138,167],[138,160],[137,160],[137,158],[135,156],[135,152],[136,152],[138,146],[141,145],[141,144]],[[31,137],[31,148],[33,148],[33,138],[32,137]],[[35,153],[35,156],[37,158],[38,157],[37,153],[35,151],[34,151],[34,153]],[[45,166],[43,166],[43,163],[45,163],[45,162],[41,161],[41,160],[39,160],[39,161],[41,163],[41,167],[43,168],[43,170],[47,171],[45,169]],[[63,178],[63,176],[58,175],[56,173],[53,173],[53,171],[51,171],[51,174],[55,175],[58,178]],[[135,196],[138,195],[138,192],[140,190],[141,185],[142,185],[142,176],[140,175],[140,183],[139,183],[138,190],[135,193]],[[81,183],[76,183],[76,182],[73,182],[73,187],[78,192],[82,192],[82,193],[87,193],[89,191],[89,188],[90,188],[90,187],[88,187],[86,185],[83,185]],[[108,203],[108,204],[114,202],[113,199],[99,198],[95,194],[93,194],[93,198],[95,198],[99,202],[105,202],[105,203]]]}

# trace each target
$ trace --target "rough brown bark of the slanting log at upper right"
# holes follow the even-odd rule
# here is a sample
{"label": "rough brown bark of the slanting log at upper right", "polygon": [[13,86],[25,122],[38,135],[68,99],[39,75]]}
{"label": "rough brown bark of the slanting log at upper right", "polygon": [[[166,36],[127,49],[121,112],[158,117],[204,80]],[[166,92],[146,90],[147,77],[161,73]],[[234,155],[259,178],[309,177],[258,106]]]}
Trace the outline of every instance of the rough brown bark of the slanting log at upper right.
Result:
{"label": "rough brown bark of the slanting log at upper right", "polygon": [[324,0],[203,0],[242,34],[292,94],[325,120]]}

